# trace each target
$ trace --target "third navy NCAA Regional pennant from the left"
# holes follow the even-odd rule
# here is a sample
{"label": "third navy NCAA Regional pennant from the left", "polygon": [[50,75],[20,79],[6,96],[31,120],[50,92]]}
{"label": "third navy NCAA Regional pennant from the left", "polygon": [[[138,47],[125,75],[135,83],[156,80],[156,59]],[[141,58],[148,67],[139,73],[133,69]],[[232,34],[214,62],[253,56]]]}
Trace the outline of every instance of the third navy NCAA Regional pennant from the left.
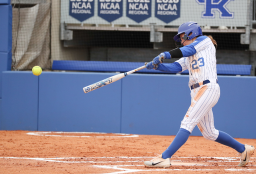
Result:
{"label": "third navy NCAA Regional pennant from the left", "polygon": [[151,17],[151,0],[127,0],[126,16],[138,23]]}

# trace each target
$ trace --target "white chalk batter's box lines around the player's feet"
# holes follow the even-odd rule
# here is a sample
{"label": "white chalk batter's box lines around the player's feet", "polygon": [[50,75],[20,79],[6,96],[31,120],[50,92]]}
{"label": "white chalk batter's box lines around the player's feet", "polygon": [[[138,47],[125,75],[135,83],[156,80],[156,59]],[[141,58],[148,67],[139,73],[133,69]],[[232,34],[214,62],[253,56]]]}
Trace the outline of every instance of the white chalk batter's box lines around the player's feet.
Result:
{"label": "white chalk batter's box lines around the player's feet", "polygon": [[[40,158],[40,157],[0,157],[0,158],[9,158],[9,159],[32,159],[32,160],[41,160],[41,161],[51,161],[51,162],[63,162],[63,163],[121,163],[121,162],[142,162],[143,160],[128,160],[128,161],[64,161],[59,159],[95,159],[95,158],[106,158],[106,159],[118,159],[118,158],[126,158],[126,159],[139,159],[139,158],[152,158],[153,156],[137,156],[137,157],[127,157],[127,156],[117,156],[117,157],[50,157],[50,158]],[[216,162],[225,162],[226,159],[227,162],[237,162],[237,157],[209,157],[209,156],[200,156],[200,157],[179,157],[179,156],[173,156],[172,158],[214,158],[214,159],[220,159],[220,160],[214,160]],[[251,157],[252,158],[252,157]],[[256,157],[253,157],[256,158]],[[234,161],[236,160],[236,161]],[[181,161],[181,160],[171,160],[171,161]],[[212,160],[208,160],[208,162],[214,162]],[[204,161],[205,162],[205,161]],[[180,164],[173,164],[173,165],[180,165]],[[184,165],[184,164],[182,164]],[[190,165],[190,164],[185,164]],[[209,166],[205,164],[191,164],[190,166]],[[105,168],[105,169],[116,169],[121,171],[115,171],[110,173],[101,173],[101,174],[122,174],[122,173],[130,173],[130,172],[141,172],[141,171],[214,171],[214,170],[220,170],[220,169],[131,169],[131,168],[125,168],[127,166],[144,166],[144,165],[92,165],[93,167],[97,168]],[[236,165],[218,165],[218,166],[236,166]],[[251,165],[250,165],[251,166]],[[252,165],[256,166],[256,165]],[[253,171],[255,169],[249,169],[249,168],[228,168],[224,169],[227,171]]]}

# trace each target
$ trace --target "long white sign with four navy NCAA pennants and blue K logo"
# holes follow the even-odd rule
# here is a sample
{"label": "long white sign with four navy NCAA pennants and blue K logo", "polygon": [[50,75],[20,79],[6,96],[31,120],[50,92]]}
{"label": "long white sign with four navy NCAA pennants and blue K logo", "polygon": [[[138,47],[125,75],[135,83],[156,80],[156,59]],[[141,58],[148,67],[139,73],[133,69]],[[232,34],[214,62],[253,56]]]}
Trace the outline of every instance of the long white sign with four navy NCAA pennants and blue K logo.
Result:
{"label": "long white sign with four navy NCAA pennants and blue K logo", "polygon": [[244,27],[249,0],[60,0],[61,23]]}

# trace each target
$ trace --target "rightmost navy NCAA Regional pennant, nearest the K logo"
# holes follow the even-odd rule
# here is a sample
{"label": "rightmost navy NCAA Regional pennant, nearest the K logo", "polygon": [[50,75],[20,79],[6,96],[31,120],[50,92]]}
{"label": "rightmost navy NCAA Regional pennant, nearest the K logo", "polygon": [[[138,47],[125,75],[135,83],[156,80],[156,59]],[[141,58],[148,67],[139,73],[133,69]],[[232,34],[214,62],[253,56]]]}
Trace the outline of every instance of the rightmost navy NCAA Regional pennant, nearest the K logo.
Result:
{"label": "rightmost navy NCAA Regional pennant, nearest the K logo", "polygon": [[180,15],[180,0],[155,0],[155,17],[169,23]]}

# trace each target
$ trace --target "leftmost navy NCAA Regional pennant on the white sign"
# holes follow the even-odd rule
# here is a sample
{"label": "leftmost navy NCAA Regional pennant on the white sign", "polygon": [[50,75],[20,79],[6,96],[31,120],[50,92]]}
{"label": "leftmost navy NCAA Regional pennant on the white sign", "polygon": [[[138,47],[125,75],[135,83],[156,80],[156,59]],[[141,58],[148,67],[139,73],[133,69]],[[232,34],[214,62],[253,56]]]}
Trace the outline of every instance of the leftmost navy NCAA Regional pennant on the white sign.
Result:
{"label": "leftmost navy NCAA Regional pennant on the white sign", "polygon": [[69,15],[83,21],[94,15],[94,0],[69,0]]}

